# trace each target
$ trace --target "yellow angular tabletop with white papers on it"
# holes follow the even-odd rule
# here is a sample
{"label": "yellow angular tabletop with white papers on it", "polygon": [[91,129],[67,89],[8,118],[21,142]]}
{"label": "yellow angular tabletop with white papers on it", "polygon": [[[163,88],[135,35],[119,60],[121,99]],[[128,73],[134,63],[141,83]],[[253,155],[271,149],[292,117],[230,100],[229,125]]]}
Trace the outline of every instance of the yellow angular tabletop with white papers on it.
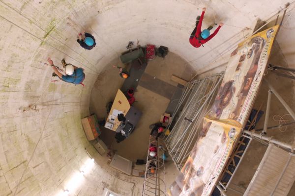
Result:
{"label": "yellow angular tabletop with white papers on it", "polygon": [[[129,109],[130,109],[130,104],[128,102],[128,99],[125,97],[122,91],[118,89],[111,111],[106,120],[107,123],[105,127],[113,131],[116,131],[120,124],[120,122],[118,121],[118,114],[123,113],[125,116]],[[113,128],[110,128],[107,126],[110,123],[114,124]]]}

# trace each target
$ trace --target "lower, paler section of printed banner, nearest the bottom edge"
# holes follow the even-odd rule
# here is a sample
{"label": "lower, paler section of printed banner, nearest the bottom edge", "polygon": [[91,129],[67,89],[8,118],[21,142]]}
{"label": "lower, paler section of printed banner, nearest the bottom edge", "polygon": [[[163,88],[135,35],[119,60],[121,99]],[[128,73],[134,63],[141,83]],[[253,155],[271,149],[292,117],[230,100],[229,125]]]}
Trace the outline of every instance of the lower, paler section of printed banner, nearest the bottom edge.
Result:
{"label": "lower, paler section of printed banner, nearest the bottom edge", "polygon": [[242,131],[234,123],[204,119],[200,138],[181,173],[170,187],[171,196],[209,196],[211,194],[231,155],[233,145]]}

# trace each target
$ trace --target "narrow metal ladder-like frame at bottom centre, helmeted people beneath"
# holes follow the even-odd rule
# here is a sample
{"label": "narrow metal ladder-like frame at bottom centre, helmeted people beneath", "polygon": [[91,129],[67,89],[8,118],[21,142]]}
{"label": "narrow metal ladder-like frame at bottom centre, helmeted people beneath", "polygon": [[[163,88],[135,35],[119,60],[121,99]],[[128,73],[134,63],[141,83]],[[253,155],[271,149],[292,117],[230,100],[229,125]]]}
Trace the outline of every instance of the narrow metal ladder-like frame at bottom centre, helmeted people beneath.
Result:
{"label": "narrow metal ladder-like frame at bottom centre, helmeted people beneath", "polygon": [[[149,139],[148,147],[142,196],[166,196],[165,164],[164,160],[159,156],[164,153],[164,150],[159,146],[157,137],[153,136]],[[156,152],[156,156],[154,157],[149,155],[151,148],[153,148],[153,152]]]}

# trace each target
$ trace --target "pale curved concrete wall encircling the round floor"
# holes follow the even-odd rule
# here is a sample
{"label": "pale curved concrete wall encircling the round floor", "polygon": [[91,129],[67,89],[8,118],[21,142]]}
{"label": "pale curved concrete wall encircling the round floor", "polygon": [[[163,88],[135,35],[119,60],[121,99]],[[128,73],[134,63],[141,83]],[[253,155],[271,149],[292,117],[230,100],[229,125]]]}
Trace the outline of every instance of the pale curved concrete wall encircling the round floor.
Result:
{"label": "pale curved concrete wall encircling the round floor", "polygon": [[[89,114],[92,85],[129,40],[167,46],[203,72],[228,59],[227,52],[251,31],[244,27],[269,18],[286,2],[1,0],[0,195],[55,195],[79,170],[89,157],[84,148],[93,150],[80,123]],[[205,48],[194,49],[188,38],[204,6],[204,25],[226,25]],[[86,51],[75,41],[82,30],[95,36],[95,49]],[[288,48],[290,43],[283,50],[291,54]],[[85,68],[86,87],[51,82],[51,68],[40,63],[48,56],[56,65],[65,58]],[[121,180],[108,170],[97,164],[72,195],[99,195],[106,186],[132,195],[134,179]],[[136,183],[139,195],[142,182]]]}

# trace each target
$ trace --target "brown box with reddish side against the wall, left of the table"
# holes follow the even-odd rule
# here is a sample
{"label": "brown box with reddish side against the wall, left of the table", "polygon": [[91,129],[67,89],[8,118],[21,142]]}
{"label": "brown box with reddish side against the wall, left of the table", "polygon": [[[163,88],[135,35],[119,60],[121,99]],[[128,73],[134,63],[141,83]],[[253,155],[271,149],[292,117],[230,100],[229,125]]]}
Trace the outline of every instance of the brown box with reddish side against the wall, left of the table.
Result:
{"label": "brown box with reddish side against the wall, left of the table", "polygon": [[81,119],[81,123],[88,141],[95,140],[100,135],[100,129],[96,115]]}

